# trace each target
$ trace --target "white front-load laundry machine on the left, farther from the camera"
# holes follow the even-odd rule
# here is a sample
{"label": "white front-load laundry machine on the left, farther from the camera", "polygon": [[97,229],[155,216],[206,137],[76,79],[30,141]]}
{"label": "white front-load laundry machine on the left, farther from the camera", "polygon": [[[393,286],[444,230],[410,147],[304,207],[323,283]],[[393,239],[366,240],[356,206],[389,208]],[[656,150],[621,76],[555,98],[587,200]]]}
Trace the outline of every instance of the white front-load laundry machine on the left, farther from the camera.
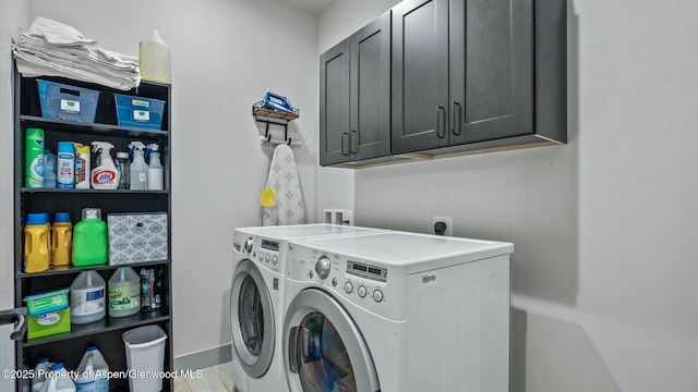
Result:
{"label": "white front-load laundry machine on the left, farther from the camera", "polygon": [[241,228],[233,233],[232,370],[241,392],[284,391],[280,328],[288,241],[383,230],[336,224]]}

